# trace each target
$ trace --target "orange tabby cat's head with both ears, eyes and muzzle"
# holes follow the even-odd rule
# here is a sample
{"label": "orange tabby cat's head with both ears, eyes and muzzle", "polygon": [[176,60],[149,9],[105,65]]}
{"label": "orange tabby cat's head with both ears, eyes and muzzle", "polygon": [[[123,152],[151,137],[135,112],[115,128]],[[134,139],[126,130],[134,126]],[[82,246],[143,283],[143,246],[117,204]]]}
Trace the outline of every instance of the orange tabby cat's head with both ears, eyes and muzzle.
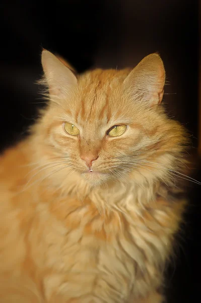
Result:
{"label": "orange tabby cat's head with both ears, eyes and muzzle", "polygon": [[160,105],[165,70],[158,54],[133,70],[76,76],[44,50],[42,66],[50,102],[38,131],[52,159],[60,155],[66,171],[92,185],[170,176],[185,140]]}

